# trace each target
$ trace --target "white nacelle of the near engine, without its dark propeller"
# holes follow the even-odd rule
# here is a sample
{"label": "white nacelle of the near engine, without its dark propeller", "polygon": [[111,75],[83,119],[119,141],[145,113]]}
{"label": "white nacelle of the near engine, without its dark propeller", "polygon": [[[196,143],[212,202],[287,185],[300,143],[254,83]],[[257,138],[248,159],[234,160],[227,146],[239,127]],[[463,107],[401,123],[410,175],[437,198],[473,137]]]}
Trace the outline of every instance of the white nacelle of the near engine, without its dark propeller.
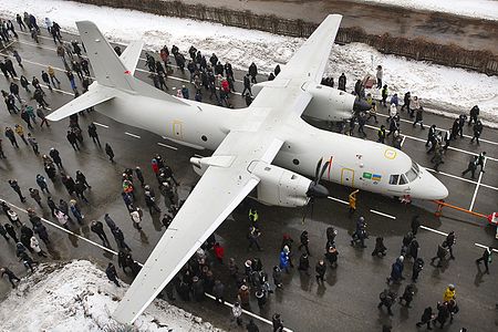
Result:
{"label": "white nacelle of the near engine, without its dark propeller", "polygon": [[307,177],[264,162],[253,162],[249,170],[260,178],[256,197],[260,203],[284,207],[307,204],[311,185]]}

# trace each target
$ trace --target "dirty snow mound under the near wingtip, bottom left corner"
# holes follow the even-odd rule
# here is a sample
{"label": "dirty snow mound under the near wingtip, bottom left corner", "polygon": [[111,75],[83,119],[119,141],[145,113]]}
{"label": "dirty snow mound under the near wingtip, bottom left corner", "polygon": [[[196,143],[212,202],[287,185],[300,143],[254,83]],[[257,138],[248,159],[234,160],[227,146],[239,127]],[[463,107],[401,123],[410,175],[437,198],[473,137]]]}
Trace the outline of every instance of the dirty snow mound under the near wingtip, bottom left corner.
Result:
{"label": "dirty snow mound under the near wingtip, bottom left corner", "polygon": [[[110,314],[128,286],[117,288],[85,260],[43,263],[0,303],[1,331],[221,331],[174,305],[155,300],[134,328],[124,330]],[[12,314],[14,313],[14,314]]]}

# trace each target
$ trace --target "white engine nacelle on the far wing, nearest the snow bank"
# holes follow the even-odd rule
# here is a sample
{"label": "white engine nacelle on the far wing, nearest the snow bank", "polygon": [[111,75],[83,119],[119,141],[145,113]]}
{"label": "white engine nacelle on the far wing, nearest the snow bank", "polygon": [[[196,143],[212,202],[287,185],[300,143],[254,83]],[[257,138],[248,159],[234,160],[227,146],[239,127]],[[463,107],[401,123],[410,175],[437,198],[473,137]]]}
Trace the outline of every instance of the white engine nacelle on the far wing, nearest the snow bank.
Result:
{"label": "white engine nacelle on the far wing, nearest the snow bank", "polygon": [[353,116],[354,95],[314,83],[308,83],[303,90],[313,95],[303,112],[304,116],[332,122],[341,122]]}

